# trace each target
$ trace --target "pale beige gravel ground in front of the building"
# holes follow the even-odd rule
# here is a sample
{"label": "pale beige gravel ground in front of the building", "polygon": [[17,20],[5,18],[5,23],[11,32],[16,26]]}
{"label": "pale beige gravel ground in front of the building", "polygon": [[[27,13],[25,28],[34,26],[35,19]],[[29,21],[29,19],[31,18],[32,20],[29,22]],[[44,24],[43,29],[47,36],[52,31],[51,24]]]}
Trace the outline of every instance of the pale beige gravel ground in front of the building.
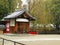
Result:
{"label": "pale beige gravel ground in front of the building", "polygon": [[[1,34],[0,37],[25,45],[60,45],[60,35]],[[0,45],[2,45],[1,39]],[[14,43],[5,41],[5,45],[14,45]]]}

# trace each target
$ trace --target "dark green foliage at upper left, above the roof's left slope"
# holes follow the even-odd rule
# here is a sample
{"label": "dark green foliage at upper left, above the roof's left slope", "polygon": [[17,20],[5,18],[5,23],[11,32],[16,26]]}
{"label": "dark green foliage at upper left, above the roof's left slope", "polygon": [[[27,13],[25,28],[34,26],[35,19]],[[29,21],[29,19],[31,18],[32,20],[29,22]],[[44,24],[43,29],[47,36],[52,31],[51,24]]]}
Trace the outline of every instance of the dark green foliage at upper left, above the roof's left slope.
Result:
{"label": "dark green foliage at upper left, above the roof's left slope", "polygon": [[14,0],[0,0],[0,20],[16,8]]}

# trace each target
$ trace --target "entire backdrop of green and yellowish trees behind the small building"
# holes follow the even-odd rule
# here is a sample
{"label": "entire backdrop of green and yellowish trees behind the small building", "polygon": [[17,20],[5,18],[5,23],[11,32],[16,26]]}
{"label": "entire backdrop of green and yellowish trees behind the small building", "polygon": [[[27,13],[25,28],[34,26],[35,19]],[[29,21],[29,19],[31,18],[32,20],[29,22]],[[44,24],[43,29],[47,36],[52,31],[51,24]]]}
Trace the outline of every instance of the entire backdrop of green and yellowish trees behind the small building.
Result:
{"label": "entire backdrop of green and yellowish trees behind the small building", "polygon": [[[21,9],[21,0],[0,0],[0,20],[14,12],[18,3]],[[60,0],[30,0],[29,13],[36,18],[32,31],[60,33]]]}

